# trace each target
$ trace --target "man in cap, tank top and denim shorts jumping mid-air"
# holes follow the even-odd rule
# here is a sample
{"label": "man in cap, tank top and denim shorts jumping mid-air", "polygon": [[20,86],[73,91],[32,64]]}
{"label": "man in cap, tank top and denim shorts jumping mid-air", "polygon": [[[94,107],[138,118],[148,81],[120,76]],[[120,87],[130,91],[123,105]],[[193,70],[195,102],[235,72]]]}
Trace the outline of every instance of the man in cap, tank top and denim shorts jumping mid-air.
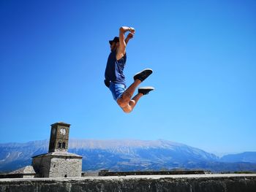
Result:
{"label": "man in cap, tank top and denim shorts jumping mid-air", "polygon": [[[124,34],[129,31],[125,38]],[[144,69],[133,77],[134,82],[127,88],[124,76],[124,66],[127,61],[126,47],[127,43],[135,34],[135,28],[122,26],[119,29],[119,37],[109,41],[111,53],[108,56],[108,62],[105,69],[105,85],[110,89],[113,99],[124,112],[132,112],[140,97],[154,90],[153,87],[138,88],[138,94],[132,98],[135,89],[140,82],[153,72],[152,69]],[[127,89],[126,89],[127,88]]]}

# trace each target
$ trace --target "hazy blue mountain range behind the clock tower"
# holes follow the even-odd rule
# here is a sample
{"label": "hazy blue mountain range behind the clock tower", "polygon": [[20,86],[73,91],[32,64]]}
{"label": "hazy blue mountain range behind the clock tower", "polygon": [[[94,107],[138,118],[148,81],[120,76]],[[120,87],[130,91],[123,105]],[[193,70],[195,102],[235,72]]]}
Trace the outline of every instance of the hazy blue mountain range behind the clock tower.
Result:
{"label": "hazy blue mountain range behind the clock tower", "polygon": [[[0,144],[0,172],[31,165],[31,157],[48,153],[48,140]],[[166,140],[69,139],[70,153],[83,156],[83,171],[146,171],[204,169],[211,172],[256,172],[256,152],[235,155],[207,153]]]}

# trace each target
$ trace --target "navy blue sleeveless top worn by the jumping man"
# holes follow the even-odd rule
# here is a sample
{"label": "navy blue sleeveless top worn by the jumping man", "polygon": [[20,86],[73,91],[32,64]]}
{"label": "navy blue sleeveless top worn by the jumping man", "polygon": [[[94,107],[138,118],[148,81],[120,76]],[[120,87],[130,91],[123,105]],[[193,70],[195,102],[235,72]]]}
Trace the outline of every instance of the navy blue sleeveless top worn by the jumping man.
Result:
{"label": "navy blue sleeveless top worn by the jumping man", "polygon": [[105,84],[115,82],[125,84],[124,76],[124,66],[127,62],[127,55],[125,54],[123,58],[116,60],[116,51],[113,51],[108,56],[108,62],[105,69]]}

